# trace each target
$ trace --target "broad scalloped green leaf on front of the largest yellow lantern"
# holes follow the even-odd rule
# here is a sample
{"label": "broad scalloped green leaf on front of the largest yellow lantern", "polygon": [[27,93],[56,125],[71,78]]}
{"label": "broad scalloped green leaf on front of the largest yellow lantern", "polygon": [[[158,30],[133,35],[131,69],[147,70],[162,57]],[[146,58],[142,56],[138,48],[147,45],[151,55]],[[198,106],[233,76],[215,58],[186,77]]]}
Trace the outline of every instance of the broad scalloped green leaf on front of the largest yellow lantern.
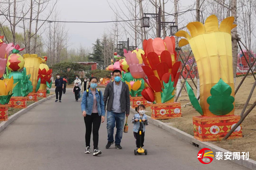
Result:
{"label": "broad scalloped green leaf on front of the largest yellow lantern", "polygon": [[230,85],[225,83],[221,78],[219,82],[212,86],[212,96],[207,98],[207,103],[210,105],[209,110],[214,115],[227,115],[234,109],[235,98],[230,96],[232,89]]}

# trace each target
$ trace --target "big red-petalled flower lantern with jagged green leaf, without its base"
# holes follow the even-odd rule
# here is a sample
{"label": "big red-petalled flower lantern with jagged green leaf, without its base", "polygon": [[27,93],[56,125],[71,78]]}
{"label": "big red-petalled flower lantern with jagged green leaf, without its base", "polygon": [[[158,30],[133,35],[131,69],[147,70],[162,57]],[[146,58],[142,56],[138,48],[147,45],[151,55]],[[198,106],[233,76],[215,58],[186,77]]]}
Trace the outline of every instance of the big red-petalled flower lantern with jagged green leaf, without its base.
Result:
{"label": "big red-petalled flower lantern with jagged green leaf, without its base", "polygon": [[181,64],[180,61],[176,62],[174,37],[144,40],[143,48],[145,54],[141,54],[141,57],[145,66],[142,69],[148,77],[144,78],[148,87],[143,89],[142,96],[151,102],[172,103]]}

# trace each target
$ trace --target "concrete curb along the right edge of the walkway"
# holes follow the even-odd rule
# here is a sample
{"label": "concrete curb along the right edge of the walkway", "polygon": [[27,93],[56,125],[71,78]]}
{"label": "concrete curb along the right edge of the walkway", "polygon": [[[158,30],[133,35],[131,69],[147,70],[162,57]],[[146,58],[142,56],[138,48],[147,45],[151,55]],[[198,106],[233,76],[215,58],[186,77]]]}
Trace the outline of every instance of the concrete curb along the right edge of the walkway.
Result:
{"label": "concrete curb along the right edge of the walkway", "polygon": [[[132,111],[133,114],[136,114],[135,110],[132,109],[132,107],[131,107],[130,110]],[[223,155],[224,155],[224,152],[230,152],[226,149],[220,148],[220,147],[218,147],[214,144],[211,144],[209,142],[199,141],[199,140],[195,139],[192,135],[189,135],[186,132],[183,132],[183,131],[181,131],[177,128],[174,128],[174,127],[172,127],[172,126],[170,126],[170,125],[168,125],[164,122],[152,119],[148,115],[147,115],[147,117],[148,117],[148,122],[149,123],[154,124],[155,126],[170,132],[172,135],[175,135],[178,138],[183,139],[186,142],[188,142],[188,143],[190,143],[190,144],[192,144],[196,147],[199,147],[201,149],[202,148],[209,148],[209,149],[212,150],[212,152],[215,152],[215,153],[216,152],[223,152]],[[177,119],[179,119],[179,118],[177,118]],[[252,160],[252,159],[242,160],[241,158],[240,158],[240,160],[233,160],[233,152],[231,152],[231,153],[232,153],[232,157],[231,157],[232,160],[229,160],[229,161],[234,162],[236,164],[239,164],[241,166],[247,167],[249,169],[256,170],[256,161],[255,160]],[[249,157],[250,157],[250,153],[249,153]],[[223,159],[224,159],[224,157],[223,157]]]}

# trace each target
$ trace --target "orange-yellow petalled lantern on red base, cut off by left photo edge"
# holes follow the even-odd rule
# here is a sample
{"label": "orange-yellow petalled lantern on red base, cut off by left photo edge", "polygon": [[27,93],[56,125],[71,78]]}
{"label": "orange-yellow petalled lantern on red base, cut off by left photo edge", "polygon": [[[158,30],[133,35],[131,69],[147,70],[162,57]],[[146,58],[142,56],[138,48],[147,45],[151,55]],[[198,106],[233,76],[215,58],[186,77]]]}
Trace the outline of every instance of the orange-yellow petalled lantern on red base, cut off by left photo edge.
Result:
{"label": "orange-yellow petalled lantern on red base, cut off by left photo edge", "polygon": [[8,119],[8,103],[16,84],[13,84],[13,77],[0,80],[0,121],[6,121]]}

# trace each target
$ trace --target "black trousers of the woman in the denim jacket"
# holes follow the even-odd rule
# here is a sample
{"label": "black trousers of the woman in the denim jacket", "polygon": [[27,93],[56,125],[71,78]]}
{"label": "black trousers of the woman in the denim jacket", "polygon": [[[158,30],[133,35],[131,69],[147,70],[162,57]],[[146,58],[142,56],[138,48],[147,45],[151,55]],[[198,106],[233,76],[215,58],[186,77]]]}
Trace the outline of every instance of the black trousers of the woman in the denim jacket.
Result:
{"label": "black trousers of the woman in the denim jacket", "polygon": [[99,129],[101,123],[101,116],[98,113],[92,113],[92,115],[86,115],[84,117],[85,123],[85,144],[86,147],[90,147],[91,134],[93,139],[93,149],[98,148],[99,143]]}

